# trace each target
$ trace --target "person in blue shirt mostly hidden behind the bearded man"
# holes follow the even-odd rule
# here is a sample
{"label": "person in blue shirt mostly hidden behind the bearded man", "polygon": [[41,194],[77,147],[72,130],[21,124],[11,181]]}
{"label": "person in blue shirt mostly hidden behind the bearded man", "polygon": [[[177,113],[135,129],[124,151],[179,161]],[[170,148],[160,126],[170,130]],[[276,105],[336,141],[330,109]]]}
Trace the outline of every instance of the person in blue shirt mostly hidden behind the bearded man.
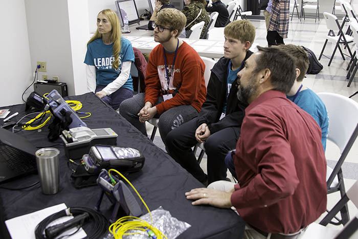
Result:
{"label": "person in blue shirt mostly hidden behind the bearded man", "polygon": [[[296,66],[296,80],[286,95],[287,99],[300,106],[302,110],[310,114],[316,120],[322,131],[323,149],[326,150],[328,134],[328,114],[326,106],[316,93],[302,85],[302,80],[307,72],[309,64],[307,53],[302,49],[302,47],[292,44],[277,47],[289,54],[294,59]],[[232,154],[228,154],[225,158],[225,164],[229,168],[232,175],[236,178]]]}

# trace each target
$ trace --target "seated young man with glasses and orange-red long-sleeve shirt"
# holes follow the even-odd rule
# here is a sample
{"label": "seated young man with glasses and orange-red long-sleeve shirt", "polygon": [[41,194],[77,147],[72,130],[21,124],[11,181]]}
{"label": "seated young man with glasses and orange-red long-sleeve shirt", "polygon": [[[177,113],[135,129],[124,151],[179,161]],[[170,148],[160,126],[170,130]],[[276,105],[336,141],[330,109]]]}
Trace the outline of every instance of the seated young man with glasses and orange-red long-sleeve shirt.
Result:
{"label": "seated young man with glasses and orange-red long-sleeve shirt", "polygon": [[158,13],[154,41],[161,44],[150,53],[145,94],[124,100],[120,114],[147,135],[145,121],[159,118],[163,142],[169,131],[196,117],[206,96],[205,64],[197,52],[178,39],[185,15],[174,8]]}

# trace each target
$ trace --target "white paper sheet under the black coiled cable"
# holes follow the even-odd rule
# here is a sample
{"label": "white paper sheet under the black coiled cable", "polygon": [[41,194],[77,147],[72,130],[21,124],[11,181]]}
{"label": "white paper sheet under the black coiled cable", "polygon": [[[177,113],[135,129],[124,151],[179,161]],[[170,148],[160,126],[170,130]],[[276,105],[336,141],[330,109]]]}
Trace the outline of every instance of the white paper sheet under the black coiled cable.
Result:
{"label": "white paper sheet under the black coiled cable", "polygon": [[[67,206],[64,203],[58,204],[29,214],[17,216],[16,218],[13,219],[9,219],[5,221],[5,224],[9,230],[12,239],[35,239],[35,227],[37,226],[37,224],[39,224],[43,219],[47,218],[49,215],[59,212],[66,208]],[[68,221],[71,218],[73,218],[73,216],[69,216],[67,219],[61,218],[59,221],[54,222],[53,225]],[[71,230],[66,231],[64,234],[72,234],[76,230],[77,228],[72,228]],[[80,238],[84,238],[86,235],[87,234],[81,228],[78,230],[76,234],[73,234],[66,238],[80,239]]]}

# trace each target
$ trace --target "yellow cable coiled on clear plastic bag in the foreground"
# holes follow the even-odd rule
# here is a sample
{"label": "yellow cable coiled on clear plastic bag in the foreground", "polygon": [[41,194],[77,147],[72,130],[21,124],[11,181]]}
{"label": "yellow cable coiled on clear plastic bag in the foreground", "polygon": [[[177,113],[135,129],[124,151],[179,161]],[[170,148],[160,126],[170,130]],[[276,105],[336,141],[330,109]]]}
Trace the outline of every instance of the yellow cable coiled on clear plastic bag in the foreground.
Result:
{"label": "yellow cable coiled on clear plastic bag in the foreground", "polygon": [[[135,190],[138,197],[142,201],[143,205],[149,212],[150,224],[147,221],[137,218],[136,216],[123,216],[123,218],[118,219],[115,223],[113,223],[109,226],[109,229],[108,229],[109,232],[113,234],[115,239],[122,238],[123,235],[139,234],[142,231],[147,231],[148,235],[152,238],[158,238],[158,239],[167,238],[163,232],[161,232],[160,230],[158,230],[152,226],[153,218],[150,213],[150,210],[149,210],[147,204],[142,199],[139,192],[137,191],[137,189],[128,181],[128,179],[126,179],[122,175],[122,173],[120,173],[119,171],[117,171],[116,169],[113,169],[113,168],[108,170],[108,175],[112,180],[113,180],[113,178],[110,175],[111,171],[118,173],[118,175],[120,175],[133,188],[133,190]],[[126,231],[128,231],[128,230],[139,230],[140,232],[131,232],[131,233],[127,232],[126,233]],[[155,235],[155,237],[154,237],[154,235]]]}

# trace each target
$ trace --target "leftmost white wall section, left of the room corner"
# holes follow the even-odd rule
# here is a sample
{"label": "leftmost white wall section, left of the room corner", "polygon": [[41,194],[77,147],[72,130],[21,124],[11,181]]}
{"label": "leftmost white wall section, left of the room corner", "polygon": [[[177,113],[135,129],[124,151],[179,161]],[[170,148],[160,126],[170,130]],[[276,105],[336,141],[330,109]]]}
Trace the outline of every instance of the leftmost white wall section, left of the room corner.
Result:
{"label": "leftmost white wall section, left of the room corner", "polygon": [[[0,107],[23,102],[33,80],[24,0],[2,1],[0,8]],[[33,68],[35,70],[35,67]],[[30,89],[29,92],[33,90]],[[26,100],[27,95],[25,95]]]}

